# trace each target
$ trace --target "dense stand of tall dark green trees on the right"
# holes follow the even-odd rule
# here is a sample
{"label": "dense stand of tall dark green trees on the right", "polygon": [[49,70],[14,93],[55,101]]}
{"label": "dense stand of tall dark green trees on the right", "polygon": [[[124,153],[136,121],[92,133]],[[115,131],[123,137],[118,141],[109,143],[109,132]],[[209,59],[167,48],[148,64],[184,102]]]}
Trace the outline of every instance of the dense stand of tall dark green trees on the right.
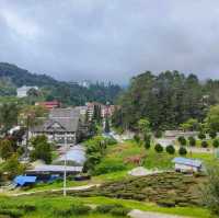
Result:
{"label": "dense stand of tall dark green trees on the right", "polygon": [[219,81],[200,82],[195,74],[165,71],[159,76],[145,72],[131,79],[120,95],[122,107],[115,113],[116,127],[135,129],[140,118],[151,127],[175,128],[188,118],[201,122],[210,105],[219,102]]}

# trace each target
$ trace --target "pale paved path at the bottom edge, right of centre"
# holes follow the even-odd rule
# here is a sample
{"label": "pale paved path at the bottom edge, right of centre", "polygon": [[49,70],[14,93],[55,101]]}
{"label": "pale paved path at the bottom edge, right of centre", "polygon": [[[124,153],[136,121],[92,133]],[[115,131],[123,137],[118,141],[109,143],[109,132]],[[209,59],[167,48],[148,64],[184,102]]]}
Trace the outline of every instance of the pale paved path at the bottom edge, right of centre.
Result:
{"label": "pale paved path at the bottom edge, right of centre", "polygon": [[165,215],[165,214],[151,213],[151,211],[141,211],[138,209],[131,210],[129,213],[129,217],[131,217],[131,218],[185,218],[185,217],[180,217],[180,216],[174,216],[174,215]]}

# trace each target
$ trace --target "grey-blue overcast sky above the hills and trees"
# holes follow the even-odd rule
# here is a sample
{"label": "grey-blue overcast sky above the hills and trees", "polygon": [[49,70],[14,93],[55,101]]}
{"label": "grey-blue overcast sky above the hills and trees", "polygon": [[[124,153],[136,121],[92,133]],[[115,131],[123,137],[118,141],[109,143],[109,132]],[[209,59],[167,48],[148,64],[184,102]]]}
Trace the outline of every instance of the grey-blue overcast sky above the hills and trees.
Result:
{"label": "grey-blue overcast sky above the hills and trees", "polygon": [[61,80],[219,78],[219,1],[0,0],[0,61]]}

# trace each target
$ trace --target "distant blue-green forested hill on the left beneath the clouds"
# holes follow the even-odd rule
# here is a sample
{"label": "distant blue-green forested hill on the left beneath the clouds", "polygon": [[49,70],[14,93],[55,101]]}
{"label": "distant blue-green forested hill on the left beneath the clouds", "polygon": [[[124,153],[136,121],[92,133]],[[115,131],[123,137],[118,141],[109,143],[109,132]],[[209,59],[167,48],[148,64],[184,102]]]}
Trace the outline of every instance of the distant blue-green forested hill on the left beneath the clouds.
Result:
{"label": "distant blue-green forested hill on the left beneath the clouds", "polygon": [[88,101],[105,103],[114,102],[120,92],[120,87],[115,84],[95,83],[89,88],[76,83],[57,81],[46,74],[35,74],[14,65],[0,62],[0,95],[15,95],[16,87],[37,85],[41,100],[58,100],[66,105],[82,105]]}

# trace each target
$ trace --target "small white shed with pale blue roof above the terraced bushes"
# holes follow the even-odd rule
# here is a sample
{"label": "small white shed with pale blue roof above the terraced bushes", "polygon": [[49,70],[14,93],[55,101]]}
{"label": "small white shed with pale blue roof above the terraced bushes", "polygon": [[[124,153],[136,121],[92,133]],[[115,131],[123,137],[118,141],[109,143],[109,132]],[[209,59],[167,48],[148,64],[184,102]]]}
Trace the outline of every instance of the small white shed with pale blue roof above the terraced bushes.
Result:
{"label": "small white shed with pale blue roof above the terraced bushes", "polygon": [[172,161],[175,164],[177,172],[200,172],[203,170],[203,162],[200,160],[187,158],[174,158]]}

